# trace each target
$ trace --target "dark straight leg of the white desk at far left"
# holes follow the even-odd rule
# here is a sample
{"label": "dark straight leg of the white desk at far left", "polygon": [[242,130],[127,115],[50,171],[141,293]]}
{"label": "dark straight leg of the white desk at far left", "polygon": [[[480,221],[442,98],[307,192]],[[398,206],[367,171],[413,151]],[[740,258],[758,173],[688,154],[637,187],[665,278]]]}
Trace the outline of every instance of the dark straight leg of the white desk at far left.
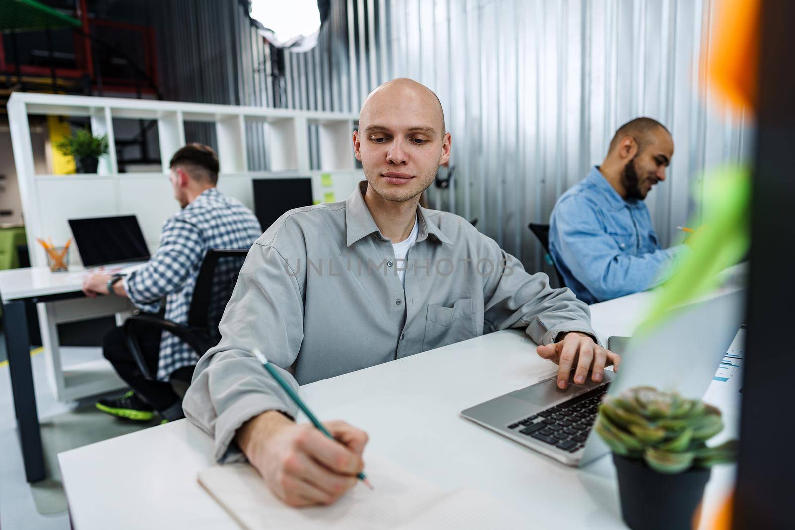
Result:
{"label": "dark straight leg of the white desk at far left", "polygon": [[4,312],[11,393],[14,395],[14,411],[17,413],[19,441],[22,446],[22,459],[25,461],[25,476],[28,482],[39,482],[45,478],[45,460],[41,449],[36,392],[33,389],[33,366],[30,362],[25,302],[22,300],[9,302],[4,305]]}

